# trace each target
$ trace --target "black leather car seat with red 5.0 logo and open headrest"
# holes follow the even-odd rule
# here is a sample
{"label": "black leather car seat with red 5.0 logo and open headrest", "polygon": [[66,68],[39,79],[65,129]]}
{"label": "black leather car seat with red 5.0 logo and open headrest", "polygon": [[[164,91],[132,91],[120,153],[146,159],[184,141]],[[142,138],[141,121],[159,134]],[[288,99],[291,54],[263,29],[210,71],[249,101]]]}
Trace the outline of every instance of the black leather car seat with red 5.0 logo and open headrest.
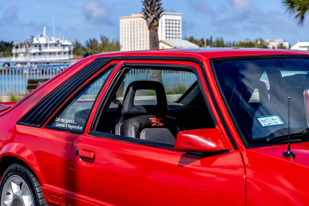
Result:
{"label": "black leather car seat with red 5.0 logo and open headrest", "polygon": [[[135,105],[137,90],[155,90],[156,105]],[[155,81],[134,81],[129,84],[122,103],[119,133],[126,137],[140,138],[149,141],[175,144],[180,131],[178,120],[167,116],[167,99],[164,86]]]}

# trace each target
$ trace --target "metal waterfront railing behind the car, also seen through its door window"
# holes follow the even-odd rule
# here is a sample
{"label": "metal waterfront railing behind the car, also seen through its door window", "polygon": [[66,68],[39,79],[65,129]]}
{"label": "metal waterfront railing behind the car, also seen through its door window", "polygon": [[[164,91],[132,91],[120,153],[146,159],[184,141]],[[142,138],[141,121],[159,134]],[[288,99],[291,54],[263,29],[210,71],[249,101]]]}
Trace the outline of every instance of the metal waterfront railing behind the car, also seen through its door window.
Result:
{"label": "metal waterfront railing behind the car, also seen through its door window", "polygon": [[[0,95],[9,95],[10,93],[25,95],[73,63],[75,61],[49,62],[48,64],[28,62],[26,64],[0,67]],[[195,74],[184,71],[162,70],[161,75],[162,83],[167,90],[178,86],[188,88],[196,81]],[[130,82],[136,80],[150,80],[150,70],[130,70],[126,76],[124,88]]]}

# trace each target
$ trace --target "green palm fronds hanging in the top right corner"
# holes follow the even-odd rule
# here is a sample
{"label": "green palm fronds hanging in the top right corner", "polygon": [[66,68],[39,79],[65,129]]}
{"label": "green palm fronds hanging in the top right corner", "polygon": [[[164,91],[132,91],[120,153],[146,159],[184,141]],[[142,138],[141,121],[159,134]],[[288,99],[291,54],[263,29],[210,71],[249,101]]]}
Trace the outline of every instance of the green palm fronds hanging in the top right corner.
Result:
{"label": "green palm fronds hanging in the top right corner", "polygon": [[303,25],[309,11],[309,0],[284,0],[282,3],[288,7],[290,13],[295,14],[298,24]]}

